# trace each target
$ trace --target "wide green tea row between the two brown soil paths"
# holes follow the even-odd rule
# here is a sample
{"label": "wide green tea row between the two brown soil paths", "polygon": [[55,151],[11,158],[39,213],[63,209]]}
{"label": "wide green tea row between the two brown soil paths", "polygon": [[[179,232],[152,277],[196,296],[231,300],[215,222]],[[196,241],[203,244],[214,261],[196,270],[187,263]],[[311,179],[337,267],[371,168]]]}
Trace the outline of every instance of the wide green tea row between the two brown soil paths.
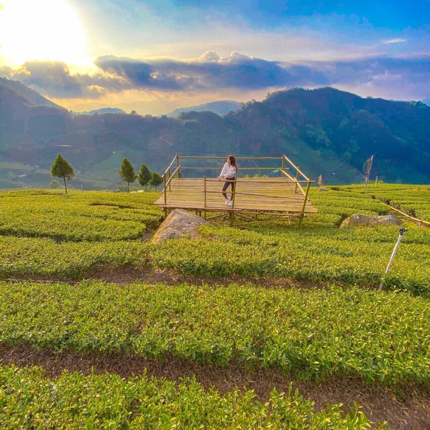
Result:
{"label": "wide green tea row between the two brown soil paths", "polygon": [[[108,305],[107,305],[108,304]],[[0,282],[0,342],[430,383],[430,305],[407,293]]]}

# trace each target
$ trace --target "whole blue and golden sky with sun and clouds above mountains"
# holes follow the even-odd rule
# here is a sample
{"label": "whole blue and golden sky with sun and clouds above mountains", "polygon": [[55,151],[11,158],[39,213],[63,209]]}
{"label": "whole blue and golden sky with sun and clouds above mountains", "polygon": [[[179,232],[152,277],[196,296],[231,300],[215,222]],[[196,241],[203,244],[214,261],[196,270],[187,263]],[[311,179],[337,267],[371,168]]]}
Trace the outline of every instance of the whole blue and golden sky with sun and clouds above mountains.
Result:
{"label": "whole blue and golden sky with sun and clouds above mountains", "polygon": [[333,86],[430,103],[430,0],[0,0],[0,76],[158,115]]}

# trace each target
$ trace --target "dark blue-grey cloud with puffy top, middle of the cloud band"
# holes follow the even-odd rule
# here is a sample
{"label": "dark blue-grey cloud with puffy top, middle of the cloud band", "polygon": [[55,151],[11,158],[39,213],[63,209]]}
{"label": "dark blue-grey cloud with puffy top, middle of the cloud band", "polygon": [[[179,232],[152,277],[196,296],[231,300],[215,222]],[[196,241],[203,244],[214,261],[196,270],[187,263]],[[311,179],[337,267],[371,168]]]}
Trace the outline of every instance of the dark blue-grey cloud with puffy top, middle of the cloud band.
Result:
{"label": "dark blue-grey cloud with puffy top, middle of the cloud band", "polygon": [[232,52],[219,57],[208,51],[192,60],[139,60],[128,57],[102,56],[97,67],[109,75],[126,80],[135,88],[191,91],[226,88],[257,89],[273,86],[327,83],[325,77],[300,65],[282,66],[276,61]]}

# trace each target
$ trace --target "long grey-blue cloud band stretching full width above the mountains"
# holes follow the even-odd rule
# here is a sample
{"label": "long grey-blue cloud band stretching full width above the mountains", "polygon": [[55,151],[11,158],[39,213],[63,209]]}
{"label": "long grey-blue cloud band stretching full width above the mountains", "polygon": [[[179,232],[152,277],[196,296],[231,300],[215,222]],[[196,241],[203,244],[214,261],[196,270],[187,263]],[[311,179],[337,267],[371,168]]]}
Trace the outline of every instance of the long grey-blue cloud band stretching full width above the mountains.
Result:
{"label": "long grey-blue cloud band stretching full width above the mountains", "polygon": [[326,85],[369,90],[368,94],[394,99],[430,97],[428,55],[279,62],[237,52],[220,57],[207,51],[189,60],[106,55],[98,57],[95,65],[98,71],[94,74],[71,74],[64,63],[32,61],[16,70],[3,67],[0,75],[20,80],[48,97],[63,99],[98,99],[125,90],[195,94]]}

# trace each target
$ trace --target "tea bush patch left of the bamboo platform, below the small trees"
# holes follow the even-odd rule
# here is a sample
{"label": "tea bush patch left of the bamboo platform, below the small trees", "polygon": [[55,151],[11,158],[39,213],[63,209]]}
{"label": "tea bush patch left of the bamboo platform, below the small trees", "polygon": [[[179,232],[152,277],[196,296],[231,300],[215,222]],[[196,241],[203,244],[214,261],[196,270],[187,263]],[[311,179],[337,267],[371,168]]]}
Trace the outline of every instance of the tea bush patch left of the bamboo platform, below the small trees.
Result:
{"label": "tea bush patch left of the bamboo platform, below the small trees", "polygon": [[[162,218],[161,210],[152,205],[156,197],[155,193],[74,192],[67,197],[6,193],[2,195],[0,234],[72,242],[139,239]],[[53,211],[53,207],[61,210]]]}

